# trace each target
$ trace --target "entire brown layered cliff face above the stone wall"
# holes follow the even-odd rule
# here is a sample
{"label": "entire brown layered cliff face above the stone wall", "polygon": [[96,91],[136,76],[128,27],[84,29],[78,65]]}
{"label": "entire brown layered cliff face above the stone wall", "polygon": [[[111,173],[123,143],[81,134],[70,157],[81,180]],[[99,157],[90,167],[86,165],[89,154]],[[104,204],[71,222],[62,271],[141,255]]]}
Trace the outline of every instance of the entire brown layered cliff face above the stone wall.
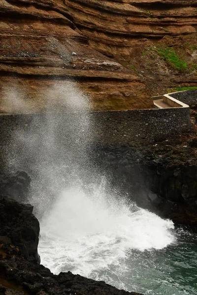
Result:
{"label": "entire brown layered cliff face above the stone wall", "polygon": [[196,0],[1,0],[0,14],[1,112],[24,111],[14,94],[27,112],[56,103],[68,78],[99,110],[197,85]]}

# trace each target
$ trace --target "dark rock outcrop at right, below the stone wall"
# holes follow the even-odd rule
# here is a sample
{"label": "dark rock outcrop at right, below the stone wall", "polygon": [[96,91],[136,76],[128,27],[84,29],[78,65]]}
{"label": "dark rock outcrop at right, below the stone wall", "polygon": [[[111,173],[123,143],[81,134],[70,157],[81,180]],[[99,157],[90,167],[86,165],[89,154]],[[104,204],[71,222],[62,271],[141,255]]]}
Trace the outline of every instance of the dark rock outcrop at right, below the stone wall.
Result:
{"label": "dark rock outcrop at right, below the stone wall", "polygon": [[112,187],[138,206],[197,233],[197,150],[190,141],[178,145],[173,138],[143,148],[100,146],[95,164],[107,171]]}

